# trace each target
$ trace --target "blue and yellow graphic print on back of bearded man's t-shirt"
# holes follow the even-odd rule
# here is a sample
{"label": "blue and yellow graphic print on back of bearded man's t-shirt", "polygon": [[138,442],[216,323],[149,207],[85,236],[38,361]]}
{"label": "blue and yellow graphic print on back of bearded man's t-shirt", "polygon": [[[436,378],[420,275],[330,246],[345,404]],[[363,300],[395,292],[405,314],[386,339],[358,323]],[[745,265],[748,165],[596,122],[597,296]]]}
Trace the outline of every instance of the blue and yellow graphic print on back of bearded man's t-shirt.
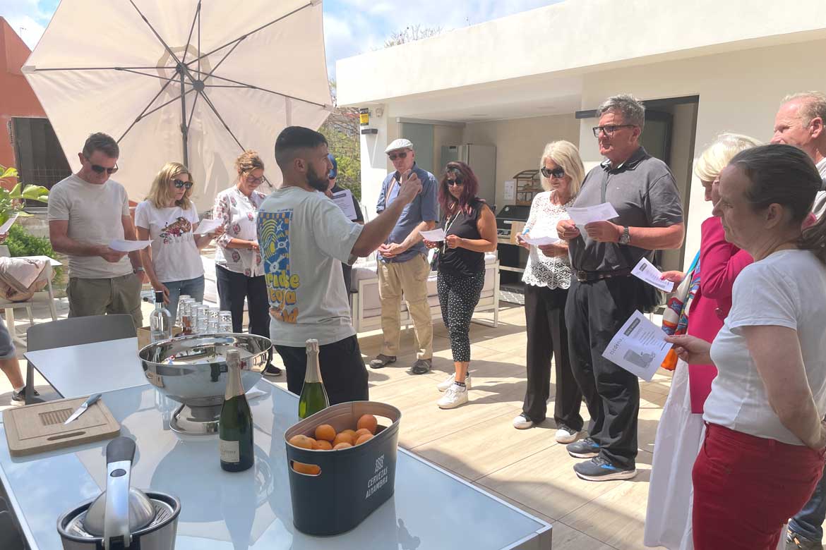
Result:
{"label": "blue and yellow graphic print on back of bearded man's t-shirt", "polygon": [[259,212],[258,235],[269,295],[269,313],[278,321],[296,323],[296,290],[301,286],[301,278],[290,271],[291,220],[292,209]]}

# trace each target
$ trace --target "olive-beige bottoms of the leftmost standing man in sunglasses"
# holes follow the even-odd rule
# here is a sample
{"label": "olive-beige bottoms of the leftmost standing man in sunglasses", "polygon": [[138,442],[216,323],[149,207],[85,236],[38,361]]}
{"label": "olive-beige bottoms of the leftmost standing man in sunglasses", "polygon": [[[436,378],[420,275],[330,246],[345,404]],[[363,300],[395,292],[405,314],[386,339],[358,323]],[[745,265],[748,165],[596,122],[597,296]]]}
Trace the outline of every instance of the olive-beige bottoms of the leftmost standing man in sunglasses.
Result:
{"label": "olive-beige bottoms of the leftmost standing man in sunglasses", "polygon": [[135,328],[143,326],[140,313],[138,275],[122,275],[112,279],[69,278],[66,294],[69,296],[69,317],[88,317],[105,313],[129,313]]}

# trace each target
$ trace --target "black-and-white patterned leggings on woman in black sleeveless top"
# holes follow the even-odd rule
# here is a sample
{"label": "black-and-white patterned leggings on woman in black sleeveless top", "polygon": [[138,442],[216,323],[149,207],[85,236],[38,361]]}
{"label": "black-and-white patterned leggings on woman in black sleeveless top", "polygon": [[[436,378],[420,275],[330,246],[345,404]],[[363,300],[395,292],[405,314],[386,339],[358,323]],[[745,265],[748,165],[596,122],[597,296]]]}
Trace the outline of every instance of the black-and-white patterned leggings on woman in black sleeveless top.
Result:
{"label": "black-and-white patterned leggings on woman in black sleeveless top", "polygon": [[479,303],[479,295],[482,294],[484,285],[484,271],[466,277],[439,270],[436,279],[439,307],[442,309],[444,326],[450,335],[450,350],[453,351],[455,362],[470,361],[470,319],[473,309]]}

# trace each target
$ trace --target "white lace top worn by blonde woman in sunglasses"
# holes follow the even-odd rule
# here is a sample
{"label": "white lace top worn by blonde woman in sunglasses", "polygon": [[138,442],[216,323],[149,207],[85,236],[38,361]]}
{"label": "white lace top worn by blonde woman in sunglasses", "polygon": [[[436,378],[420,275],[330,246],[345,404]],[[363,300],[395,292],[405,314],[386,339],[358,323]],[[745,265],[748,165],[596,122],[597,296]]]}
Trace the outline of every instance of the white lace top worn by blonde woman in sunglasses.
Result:
{"label": "white lace top worn by blonde woman in sunglasses", "polygon": [[[564,205],[552,204],[552,194],[553,191],[539,193],[530,205],[525,231],[533,237],[556,237],[559,220],[570,218],[567,207],[572,206],[573,199]],[[531,245],[522,282],[549,289],[567,289],[571,286],[571,259],[569,256],[545,256],[539,248]]]}

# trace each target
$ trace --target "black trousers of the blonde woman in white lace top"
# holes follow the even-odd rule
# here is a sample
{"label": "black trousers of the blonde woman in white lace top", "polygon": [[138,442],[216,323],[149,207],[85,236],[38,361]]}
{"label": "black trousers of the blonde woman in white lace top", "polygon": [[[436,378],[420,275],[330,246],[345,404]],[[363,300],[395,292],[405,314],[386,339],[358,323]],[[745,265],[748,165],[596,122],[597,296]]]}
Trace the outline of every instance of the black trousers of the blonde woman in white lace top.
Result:
{"label": "black trousers of the blonde woman in white lace top", "polygon": [[528,387],[522,412],[534,422],[545,420],[551,391],[551,358],[557,374],[553,421],[582,430],[582,391],[573,378],[565,325],[567,289],[525,284],[525,326],[528,331]]}

